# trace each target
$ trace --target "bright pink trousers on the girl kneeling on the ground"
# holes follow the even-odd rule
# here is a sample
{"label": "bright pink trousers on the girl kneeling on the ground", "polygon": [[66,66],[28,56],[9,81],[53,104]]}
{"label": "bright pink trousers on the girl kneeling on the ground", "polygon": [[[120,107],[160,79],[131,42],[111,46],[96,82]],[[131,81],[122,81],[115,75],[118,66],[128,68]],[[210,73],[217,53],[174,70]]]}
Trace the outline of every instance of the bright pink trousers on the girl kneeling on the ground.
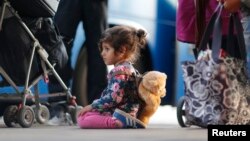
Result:
{"label": "bright pink trousers on the girl kneeling on the ground", "polygon": [[99,112],[87,112],[83,116],[77,118],[80,128],[85,129],[114,129],[116,120],[111,115],[102,115]]}

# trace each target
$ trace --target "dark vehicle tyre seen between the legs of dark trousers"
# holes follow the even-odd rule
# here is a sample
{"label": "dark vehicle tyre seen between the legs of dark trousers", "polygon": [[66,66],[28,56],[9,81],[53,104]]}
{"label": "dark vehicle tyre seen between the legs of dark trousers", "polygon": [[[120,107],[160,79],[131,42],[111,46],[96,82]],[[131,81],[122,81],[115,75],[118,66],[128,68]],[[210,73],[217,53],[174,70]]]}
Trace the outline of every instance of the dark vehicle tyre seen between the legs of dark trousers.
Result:
{"label": "dark vehicle tyre seen between the legs of dark trousers", "polygon": [[72,95],[76,96],[77,104],[82,106],[88,104],[87,67],[87,51],[84,47],[78,55],[72,85]]}

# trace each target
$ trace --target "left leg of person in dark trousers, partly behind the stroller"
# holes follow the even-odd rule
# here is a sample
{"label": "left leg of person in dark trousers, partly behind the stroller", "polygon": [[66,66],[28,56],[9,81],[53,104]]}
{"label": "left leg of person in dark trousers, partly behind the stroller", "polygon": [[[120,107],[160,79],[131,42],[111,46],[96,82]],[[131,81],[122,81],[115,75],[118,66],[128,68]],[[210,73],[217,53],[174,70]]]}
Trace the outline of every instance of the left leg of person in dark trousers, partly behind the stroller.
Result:
{"label": "left leg of person in dark trousers, partly behind the stroller", "polygon": [[[70,79],[72,78],[71,68],[71,50],[73,46],[73,39],[76,34],[77,26],[81,20],[81,0],[61,0],[54,17],[55,24],[57,25],[61,36],[63,37],[64,44],[67,49],[69,60],[67,65],[56,70],[59,76],[62,78],[66,86],[70,87]],[[49,83],[49,92],[62,92],[63,88],[55,80],[53,76],[50,77],[51,83]],[[49,101],[59,101],[62,98],[50,98]]]}

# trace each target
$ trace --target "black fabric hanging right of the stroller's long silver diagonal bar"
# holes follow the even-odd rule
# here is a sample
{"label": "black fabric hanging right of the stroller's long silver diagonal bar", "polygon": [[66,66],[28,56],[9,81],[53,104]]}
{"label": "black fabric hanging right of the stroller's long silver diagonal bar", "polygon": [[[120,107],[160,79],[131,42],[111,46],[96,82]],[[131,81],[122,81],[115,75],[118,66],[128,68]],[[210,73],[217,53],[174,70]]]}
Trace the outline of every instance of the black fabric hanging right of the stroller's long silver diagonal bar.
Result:
{"label": "black fabric hanging right of the stroller's long silver diagonal bar", "polygon": [[51,64],[55,69],[62,69],[68,62],[68,54],[52,18],[23,18],[31,32],[49,54]]}

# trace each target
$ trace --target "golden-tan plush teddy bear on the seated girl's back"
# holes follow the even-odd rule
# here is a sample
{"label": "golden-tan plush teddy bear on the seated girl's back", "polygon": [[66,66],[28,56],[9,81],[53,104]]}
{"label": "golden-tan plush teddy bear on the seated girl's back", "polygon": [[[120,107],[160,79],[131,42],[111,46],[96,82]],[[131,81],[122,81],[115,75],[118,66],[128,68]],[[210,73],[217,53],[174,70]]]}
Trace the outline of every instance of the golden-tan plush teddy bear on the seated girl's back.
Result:
{"label": "golden-tan plush teddy bear on the seated girl's back", "polygon": [[160,106],[161,98],[166,96],[166,81],[167,75],[159,71],[149,71],[142,76],[138,86],[138,94],[142,100],[138,119],[146,126]]}

